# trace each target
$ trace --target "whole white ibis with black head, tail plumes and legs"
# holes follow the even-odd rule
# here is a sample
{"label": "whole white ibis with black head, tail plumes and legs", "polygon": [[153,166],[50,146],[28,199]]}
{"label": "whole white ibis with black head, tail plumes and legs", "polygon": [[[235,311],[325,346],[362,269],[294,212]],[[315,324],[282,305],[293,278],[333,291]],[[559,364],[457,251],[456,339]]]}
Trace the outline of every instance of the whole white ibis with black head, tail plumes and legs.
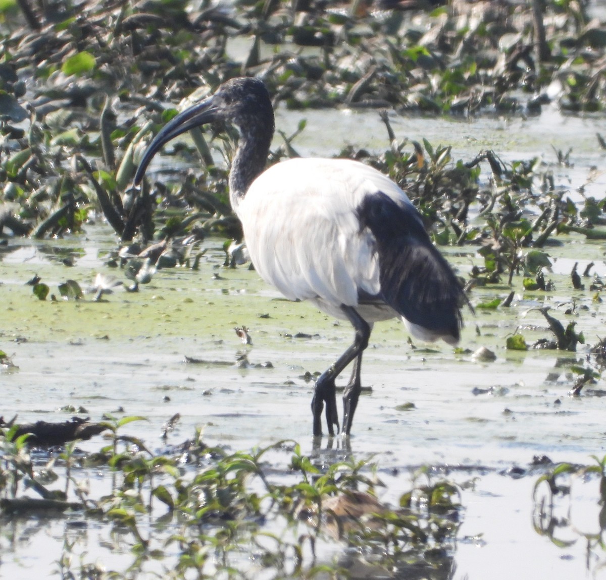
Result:
{"label": "whole white ibis with black head, tail plumes and legs", "polygon": [[348,435],[373,323],[399,316],[414,337],[456,343],[461,285],[415,206],[379,171],[345,159],[291,159],[265,170],[274,116],[259,79],[231,79],[170,120],[145,152],[135,184],[164,143],[216,121],[239,129],[230,202],[256,271],[285,297],[311,300],[355,329],[351,346],[316,381],[311,401],[313,434],[322,435],[325,404],[328,433],[334,435],[335,379],[353,362],[343,396],[342,432]]}

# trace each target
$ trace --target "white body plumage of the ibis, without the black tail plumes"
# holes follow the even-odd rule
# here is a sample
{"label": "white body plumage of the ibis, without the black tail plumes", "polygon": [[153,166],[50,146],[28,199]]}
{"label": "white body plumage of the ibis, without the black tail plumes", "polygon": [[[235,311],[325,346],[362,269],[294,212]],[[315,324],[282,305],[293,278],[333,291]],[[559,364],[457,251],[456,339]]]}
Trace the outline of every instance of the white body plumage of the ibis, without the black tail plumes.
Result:
{"label": "white body plumage of the ibis, without the black tail plumes", "polygon": [[291,159],[257,177],[235,210],[262,278],[291,300],[355,306],[358,289],[376,294],[373,236],[360,231],[356,216],[364,196],[376,191],[373,180],[387,182],[396,202],[410,203],[395,183],[355,161]]}

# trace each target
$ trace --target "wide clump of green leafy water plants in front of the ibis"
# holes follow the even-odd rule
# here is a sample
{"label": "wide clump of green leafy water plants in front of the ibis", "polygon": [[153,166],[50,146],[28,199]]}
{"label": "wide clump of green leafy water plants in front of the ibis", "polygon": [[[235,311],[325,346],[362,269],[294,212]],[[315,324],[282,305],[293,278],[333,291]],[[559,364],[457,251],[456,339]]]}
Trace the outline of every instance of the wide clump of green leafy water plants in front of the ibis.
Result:
{"label": "wide clump of green leafy water plants in front of the ibis", "polygon": [[[426,570],[450,577],[461,518],[455,484],[435,481],[422,470],[392,507],[376,499],[381,479],[365,461],[321,467],[287,441],[225,453],[205,446],[199,432],[170,453],[154,455],[142,441],[118,433],[140,419],[106,421],[113,430],[110,446],[82,454],[68,444],[51,453],[44,469],[33,458],[27,434],[13,437],[15,426],[4,430],[2,518],[77,512],[122,530],[122,549],[130,546],[135,557],[132,572],[163,570],[170,578],[190,572],[198,578],[342,577],[357,560],[368,573]],[[92,496],[79,479],[87,465],[112,470],[110,493]],[[26,489],[41,499],[24,495]],[[69,545],[58,565],[64,575],[70,568],[77,573]],[[91,565],[81,562],[80,573]],[[104,569],[96,577],[122,572]]]}

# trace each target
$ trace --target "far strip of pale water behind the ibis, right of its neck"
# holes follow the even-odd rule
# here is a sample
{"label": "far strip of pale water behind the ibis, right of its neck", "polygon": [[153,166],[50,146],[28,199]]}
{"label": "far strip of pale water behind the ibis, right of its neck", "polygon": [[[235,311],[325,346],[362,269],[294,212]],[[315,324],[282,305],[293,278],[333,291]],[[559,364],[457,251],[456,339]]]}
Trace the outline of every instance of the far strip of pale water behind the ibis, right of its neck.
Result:
{"label": "far strip of pale water behind the ibis, right of its neck", "polygon": [[[387,130],[376,111],[278,111],[276,127],[289,135],[301,119],[307,120],[307,127],[293,147],[302,156],[333,156],[346,145],[376,153],[389,145]],[[487,114],[444,119],[391,114],[390,123],[398,140],[422,143],[427,139],[434,148],[450,146],[455,160],[471,161],[483,150],[493,150],[507,163],[538,157],[553,172],[555,183],[570,188],[575,202],[582,199],[576,191],[581,185],[586,185],[587,197],[601,199],[606,190],[606,151],[599,147],[596,137],[596,133],[606,134],[606,118],[602,115],[567,115],[554,105],[545,105],[541,114],[529,117]],[[570,166],[558,166],[556,151],[566,154],[569,150]],[[597,171],[592,172],[592,168]],[[487,163],[482,165],[482,172],[487,178]]]}

